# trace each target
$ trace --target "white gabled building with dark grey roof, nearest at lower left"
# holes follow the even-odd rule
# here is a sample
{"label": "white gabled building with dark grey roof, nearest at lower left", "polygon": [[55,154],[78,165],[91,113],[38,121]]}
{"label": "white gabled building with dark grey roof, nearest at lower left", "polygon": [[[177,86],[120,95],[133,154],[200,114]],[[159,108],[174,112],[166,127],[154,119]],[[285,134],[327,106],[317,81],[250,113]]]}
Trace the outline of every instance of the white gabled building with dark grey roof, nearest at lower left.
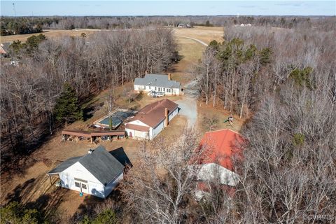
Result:
{"label": "white gabled building with dark grey roof, nearest at lower left", "polygon": [[123,180],[124,168],[104,146],[98,146],[87,155],[62,162],[48,176],[57,174],[63,188],[106,198]]}

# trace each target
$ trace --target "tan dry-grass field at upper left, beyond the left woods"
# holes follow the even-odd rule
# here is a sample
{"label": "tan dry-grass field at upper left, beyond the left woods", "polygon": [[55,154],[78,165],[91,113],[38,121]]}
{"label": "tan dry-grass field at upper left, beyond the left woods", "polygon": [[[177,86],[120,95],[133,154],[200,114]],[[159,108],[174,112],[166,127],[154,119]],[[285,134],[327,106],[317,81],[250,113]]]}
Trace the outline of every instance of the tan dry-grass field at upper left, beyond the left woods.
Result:
{"label": "tan dry-grass field at upper left, beyond the left woods", "polygon": [[13,41],[27,41],[29,36],[43,34],[47,38],[62,38],[64,36],[80,36],[80,34],[85,33],[86,35],[93,34],[94,32],[99,31],[98,29],[76,29],[76,30],[67,30],[67,29],[45,29],[42,33],[36,34],[18,34],[10,36],[0,36],[0,42],[13,42]]}

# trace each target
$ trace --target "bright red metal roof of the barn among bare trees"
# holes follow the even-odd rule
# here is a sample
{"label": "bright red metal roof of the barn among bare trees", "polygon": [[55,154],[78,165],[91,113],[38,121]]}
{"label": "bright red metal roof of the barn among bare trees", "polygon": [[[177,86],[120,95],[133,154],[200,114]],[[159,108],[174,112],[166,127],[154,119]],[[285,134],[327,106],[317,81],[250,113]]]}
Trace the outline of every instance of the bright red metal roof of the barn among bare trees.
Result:
{"label": "bright red metal roof of the barn among bare trees", "polygon": [[200,142],[204,153],[200,164],[216,163],[234,172],[234,158],[242,159],[242,149],[239,144],[244,142],[241,134],[232,130],[206,132]]}

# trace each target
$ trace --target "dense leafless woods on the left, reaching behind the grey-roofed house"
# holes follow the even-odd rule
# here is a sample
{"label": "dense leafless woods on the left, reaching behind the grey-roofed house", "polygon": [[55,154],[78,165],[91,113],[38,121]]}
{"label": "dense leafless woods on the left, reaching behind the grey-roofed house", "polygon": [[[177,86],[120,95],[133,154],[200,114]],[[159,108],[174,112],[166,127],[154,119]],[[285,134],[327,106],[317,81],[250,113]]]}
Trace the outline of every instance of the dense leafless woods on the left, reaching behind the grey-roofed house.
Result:
{"label": "dense leafless woods on the left, reaching behind the grey-roofed house", "polygon": [[[30,48],[29,48],[30,49]],[[145,71],[162,71],[176,57],[167,30],[104,32],[48,39],[17,53],[19,66],[1,64],[1,160],[25,153],[55,127],[54,108],[64,83],[80,103]]]}

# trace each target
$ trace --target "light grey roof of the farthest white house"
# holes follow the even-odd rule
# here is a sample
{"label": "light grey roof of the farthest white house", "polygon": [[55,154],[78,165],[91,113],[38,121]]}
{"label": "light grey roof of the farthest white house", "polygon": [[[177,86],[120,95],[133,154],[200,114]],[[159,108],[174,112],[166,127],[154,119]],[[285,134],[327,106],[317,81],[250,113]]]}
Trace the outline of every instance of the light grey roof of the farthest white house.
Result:
{"label": "light grey roof of the farthest white house", "polygon": [[180,88],[179,82],[175,80],[168,80],[168,76],[158,74],[146,74],[144,78],[135,78],[134,85]]}

